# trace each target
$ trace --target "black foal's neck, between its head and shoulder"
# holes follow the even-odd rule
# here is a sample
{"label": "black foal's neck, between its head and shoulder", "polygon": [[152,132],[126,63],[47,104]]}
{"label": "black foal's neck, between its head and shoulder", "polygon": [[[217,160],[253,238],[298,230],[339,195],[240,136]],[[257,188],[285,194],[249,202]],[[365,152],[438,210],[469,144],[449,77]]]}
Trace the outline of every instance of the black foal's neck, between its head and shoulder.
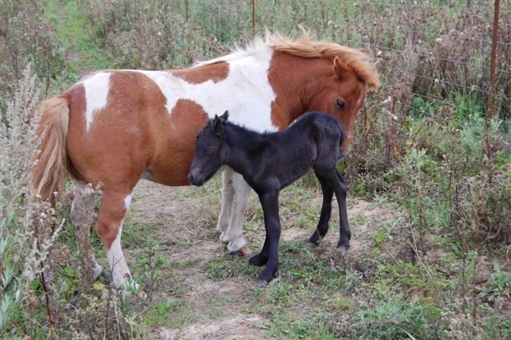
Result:
{"label": "black foal's neck, between its head and shoulder", "polygon": [[251,167],[250,153],[261,149],[265,135],[241,126],[226,124],[223,133],[223,163],[239,174],[246,174]]}

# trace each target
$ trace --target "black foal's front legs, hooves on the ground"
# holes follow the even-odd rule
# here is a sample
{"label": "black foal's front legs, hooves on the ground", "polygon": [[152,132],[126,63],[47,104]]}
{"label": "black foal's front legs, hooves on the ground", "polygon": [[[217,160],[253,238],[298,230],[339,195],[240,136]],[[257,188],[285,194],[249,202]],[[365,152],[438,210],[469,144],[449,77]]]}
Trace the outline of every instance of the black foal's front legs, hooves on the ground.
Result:
{"label": "black foal's front legs, hooves on the ground", "polygon": [[258,275],[258,285],[265,285],[270,282],[279,268],[279,240],[280,240],[280,219],[279,219],[279,193],[265,192],[259,195],[265,215],[266,239],[263,250],[260,254],[253,256],[249,263],[256,266],[263,266],[265,269]]}

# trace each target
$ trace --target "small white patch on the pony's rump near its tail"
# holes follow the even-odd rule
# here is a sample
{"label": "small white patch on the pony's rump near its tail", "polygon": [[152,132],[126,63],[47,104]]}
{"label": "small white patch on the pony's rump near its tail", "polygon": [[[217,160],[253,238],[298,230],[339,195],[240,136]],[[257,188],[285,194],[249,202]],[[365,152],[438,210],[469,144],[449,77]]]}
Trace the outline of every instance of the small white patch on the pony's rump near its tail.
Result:
{"label": "small white patch on the pony's rump near its tail", "polygon": [[95,112],[107,105],[108,91],[110,91],[110,72],[98,72],[83,81],[85,89],[85,120],[87,132],[91,129]]}

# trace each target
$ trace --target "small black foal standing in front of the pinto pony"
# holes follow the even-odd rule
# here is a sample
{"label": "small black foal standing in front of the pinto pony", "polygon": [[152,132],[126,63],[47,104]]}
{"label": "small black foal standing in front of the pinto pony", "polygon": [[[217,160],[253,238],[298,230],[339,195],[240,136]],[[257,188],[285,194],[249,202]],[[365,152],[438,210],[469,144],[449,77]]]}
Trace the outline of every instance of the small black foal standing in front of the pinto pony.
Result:
{"label": "small black foal standing in front of the pinto pony", "polygon": [[333,117],[321,112],[303,115],[288,129],[276,133],[255,133],[227,122],[229,113],[209,120],[197,135],[197,145],[188,179],[202,185],[223,164],[243,175],[258,194],[265,216],[266,239],[260,254],[249,263],[266,268],[258,275],[259,284],[270,282],[279,267],[279,191],[305,175],[310,168],[321,183],[323,206],[317,230],[310,242],[317,245],[328,230],[333,192],[340,213],[338,248],[350,247],[346,215],[346,185],[337,171],[343,156],[340,144],[343,129]]}

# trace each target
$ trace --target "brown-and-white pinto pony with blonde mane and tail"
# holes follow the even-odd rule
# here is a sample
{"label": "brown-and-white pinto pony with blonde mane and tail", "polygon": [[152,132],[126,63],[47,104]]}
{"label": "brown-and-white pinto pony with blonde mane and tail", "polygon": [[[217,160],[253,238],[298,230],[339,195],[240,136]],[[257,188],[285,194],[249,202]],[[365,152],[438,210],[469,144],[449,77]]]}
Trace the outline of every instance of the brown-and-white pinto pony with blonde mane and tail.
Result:
{"label": "brown-and-white pinto pony with blonde mane and tail", "polygon": [[[102,70],[42,105],[43,136],[34,186],[43,199],[62,192],[65,171],[75,185],[102,183],[95,225],[105,246],[114,285],[131,280],[121,250],[122,221],[133,188],[145,178],[189,185],[195,138],[215,113],[253,131],[284,130],[307,111],[337,117],[350,148],[356,113],[378,87],[373,60],[327,41],[266,34],[230,55],[183,70]],[[237,251],[250,187],[223,171],[220,239]],[[91,212],[92,214],[92,212]]]}

